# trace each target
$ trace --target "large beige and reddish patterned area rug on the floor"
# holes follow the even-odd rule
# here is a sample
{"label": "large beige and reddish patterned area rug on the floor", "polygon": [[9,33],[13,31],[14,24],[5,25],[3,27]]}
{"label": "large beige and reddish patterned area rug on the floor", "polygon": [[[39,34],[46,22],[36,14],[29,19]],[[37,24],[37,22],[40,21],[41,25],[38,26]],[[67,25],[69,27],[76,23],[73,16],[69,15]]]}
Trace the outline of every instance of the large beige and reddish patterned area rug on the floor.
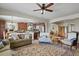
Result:
{"label": "large beige and reddish patterned area rug on the floor", "polygon": [[31,44],[13,50],[13,56],[73,56],[73,53],[51,44]]}

